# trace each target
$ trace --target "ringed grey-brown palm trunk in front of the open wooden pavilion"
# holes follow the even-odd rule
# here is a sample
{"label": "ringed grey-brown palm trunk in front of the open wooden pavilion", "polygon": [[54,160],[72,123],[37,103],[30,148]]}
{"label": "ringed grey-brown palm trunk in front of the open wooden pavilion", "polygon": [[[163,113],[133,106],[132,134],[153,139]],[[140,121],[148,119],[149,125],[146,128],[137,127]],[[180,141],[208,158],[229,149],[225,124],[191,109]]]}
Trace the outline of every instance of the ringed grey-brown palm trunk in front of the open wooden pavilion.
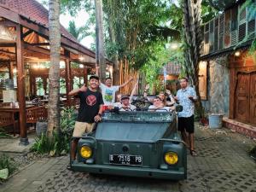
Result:
{"label": "ringed grey-brown palm trunk in front of the open wooden pavilion", "polygon": [[49,0],[49,105],[47,135],[60,131],[60,0]]}

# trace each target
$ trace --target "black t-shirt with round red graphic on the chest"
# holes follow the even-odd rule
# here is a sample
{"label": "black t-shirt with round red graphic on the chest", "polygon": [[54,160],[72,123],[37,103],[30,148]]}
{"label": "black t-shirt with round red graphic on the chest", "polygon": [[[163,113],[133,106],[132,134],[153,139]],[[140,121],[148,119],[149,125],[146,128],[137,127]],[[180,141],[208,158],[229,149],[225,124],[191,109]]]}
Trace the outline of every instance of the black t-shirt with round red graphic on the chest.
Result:
{"label": "black t-shirt with round red graphic on the chest", "polygon": [[77,121],[85,123],[93,123],[94,117],[99,112],[100,105],[104,104],[102,93],[98,90],[96,92],[87,89],[79,92],[80,108],[79,117]]}

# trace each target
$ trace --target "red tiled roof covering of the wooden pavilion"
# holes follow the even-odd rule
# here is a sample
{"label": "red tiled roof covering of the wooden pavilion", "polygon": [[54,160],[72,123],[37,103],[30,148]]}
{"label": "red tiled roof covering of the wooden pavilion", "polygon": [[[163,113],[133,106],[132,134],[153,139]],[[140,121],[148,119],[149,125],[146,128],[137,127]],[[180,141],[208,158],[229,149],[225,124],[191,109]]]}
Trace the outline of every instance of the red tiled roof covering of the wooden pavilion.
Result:
{"label": "red tiled roof covering of the wooden pavilion", "polygon": [[[0,1],[0,6],[12,10],[41,26],[45,26],[47,28],[49,26],[48,10],[36,0],[2,0]],[[67,32],[63,26],[61,26],[61,35],[73,40],[76,43],[79,43],[77,39]]]}

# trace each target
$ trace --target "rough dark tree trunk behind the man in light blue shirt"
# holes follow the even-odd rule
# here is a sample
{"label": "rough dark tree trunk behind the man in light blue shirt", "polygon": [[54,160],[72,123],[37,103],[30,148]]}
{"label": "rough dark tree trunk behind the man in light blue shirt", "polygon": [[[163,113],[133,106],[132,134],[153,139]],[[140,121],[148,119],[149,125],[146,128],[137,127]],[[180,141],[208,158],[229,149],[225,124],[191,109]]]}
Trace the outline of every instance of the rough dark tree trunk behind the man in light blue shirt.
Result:
{"label": "rough dark tree trunk behind the man in light blue shirt", "polygon": [[199,93],[199,59],[201,50],[201,0],[183,1],[184,20],[184,67],[198,96],[197,112],[203,116],[201,96]]}

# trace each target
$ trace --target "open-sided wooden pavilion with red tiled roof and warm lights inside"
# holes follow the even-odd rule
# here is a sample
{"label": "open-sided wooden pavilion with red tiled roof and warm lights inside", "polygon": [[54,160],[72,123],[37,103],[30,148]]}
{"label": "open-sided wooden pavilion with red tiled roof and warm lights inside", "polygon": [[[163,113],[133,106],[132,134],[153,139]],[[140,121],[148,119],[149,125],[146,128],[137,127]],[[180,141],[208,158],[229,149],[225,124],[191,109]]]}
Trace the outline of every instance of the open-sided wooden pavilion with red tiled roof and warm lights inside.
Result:
{"label": "open-sided wooden pavilion with red tiled roof and warm lights inside", "polygon": [[[44,88],[48,78],[47,68],[32,67],[49,61],[48,10],[36,0],[0,1],[0,71],[8,68],[9,79],[17,72],[17,99],[19,102],[20,143],[27,143],[26,96],[36,93],[36,77],[43,77]],[[61,26],[61,77],[66,79],[66,92],[72,90],[73,76],[87,82],[88,69],[94,68],[96,54],[79,44],[76,38]],[[71,62],[83,67],[73,69]],[[107,65],[110,62],[107,61]],[[26,81],[28,79],[28,84]],[[72,99],[67,96],[67,105]]]}

